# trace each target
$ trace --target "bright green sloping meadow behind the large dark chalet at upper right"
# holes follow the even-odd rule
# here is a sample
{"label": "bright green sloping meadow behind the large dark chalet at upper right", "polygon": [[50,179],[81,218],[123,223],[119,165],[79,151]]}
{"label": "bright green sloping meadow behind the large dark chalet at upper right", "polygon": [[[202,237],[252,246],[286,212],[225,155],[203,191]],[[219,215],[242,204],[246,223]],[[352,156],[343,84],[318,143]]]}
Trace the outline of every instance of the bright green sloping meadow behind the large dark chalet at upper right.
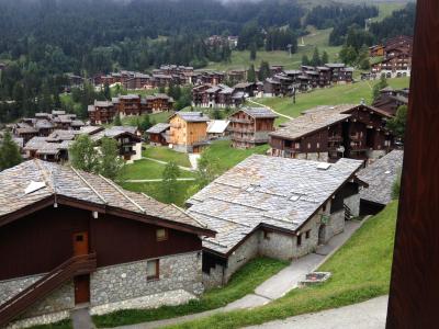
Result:
{"label": "bright green sloping meadow behind the large dark chalet at upper right", "polygon": [[[337,105],[337,104],[359,104],[361,99],[367,104],[372,103],[372,89],[374,83],[379,81],[360,81],[351,84],[340,84],[331,88],[316,89],[308,93],[300,93],[296,97],[296,103],[293,104],[291,98],[264,98],[255,101],[270,106],[279,113],[296,117],[303,111],[318,105]],[[406,88],[409,84],[409,78],[389,79],[389,84],[395,89]],[[255,106],[255,104],[249,103]],[[277,123],[288,121],[280,117]]]}

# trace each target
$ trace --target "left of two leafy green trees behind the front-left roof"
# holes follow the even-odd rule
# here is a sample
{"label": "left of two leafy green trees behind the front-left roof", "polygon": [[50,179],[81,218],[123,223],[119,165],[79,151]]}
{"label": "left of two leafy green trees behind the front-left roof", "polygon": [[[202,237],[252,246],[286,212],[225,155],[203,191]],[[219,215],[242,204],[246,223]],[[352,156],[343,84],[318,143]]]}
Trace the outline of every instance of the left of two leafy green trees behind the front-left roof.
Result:
{"label": "left of two leafy green trees behind the front-left roof", "polygon": [[69,148],[71,167],[87,172],[97,172],[99,166],[94,143],[88,135],[80,135]]}

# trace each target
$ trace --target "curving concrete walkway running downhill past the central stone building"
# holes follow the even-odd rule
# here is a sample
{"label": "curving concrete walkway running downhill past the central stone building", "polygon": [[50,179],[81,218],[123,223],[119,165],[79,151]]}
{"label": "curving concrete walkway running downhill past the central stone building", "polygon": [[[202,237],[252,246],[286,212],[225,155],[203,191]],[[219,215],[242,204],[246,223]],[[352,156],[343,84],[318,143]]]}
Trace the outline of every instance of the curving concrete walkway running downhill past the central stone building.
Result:
{"label": "curving concrete walkway running downhill past the central stone building", "polygon": [[330,239],[327,245],[317,248],[316,253],[309,253],[305,257],[302,257],[293,261],[289,266],[280,271],[278,274],[271,276],[269,280],[263,282],[258,287],[256,287],[254,294],[248,294],[238,300],[229,303],[225,307],[172,319],[150,321],[132,326],[122,326],[116,328],[120,329],[160,328],[198,318],[203,318],[221,311],[252,308],[266,305],[273,299],[282,297],[291,290],[297,287],[299,282],[305,279],[305,275],[307,273],[315,271],[322,263],[324,263],[352,236],[352,234],[357,229],[361,227],[361,225],[368,218],[364,218],[362,222],[358,220],[346,222],[345,230],[341,234],[335,236],[333,239]]}

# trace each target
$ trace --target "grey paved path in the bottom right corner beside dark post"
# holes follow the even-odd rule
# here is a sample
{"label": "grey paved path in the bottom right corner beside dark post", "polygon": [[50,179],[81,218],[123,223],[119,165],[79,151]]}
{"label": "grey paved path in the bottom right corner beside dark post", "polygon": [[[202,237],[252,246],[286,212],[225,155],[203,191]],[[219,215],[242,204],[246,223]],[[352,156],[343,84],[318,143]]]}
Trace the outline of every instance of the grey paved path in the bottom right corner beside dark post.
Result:
{"label": "grey paved path in the bottom right corner beside dark post", "polygon": [[267,322],[252,329],[381,329],[385,328],[389,296],[360,304]]}

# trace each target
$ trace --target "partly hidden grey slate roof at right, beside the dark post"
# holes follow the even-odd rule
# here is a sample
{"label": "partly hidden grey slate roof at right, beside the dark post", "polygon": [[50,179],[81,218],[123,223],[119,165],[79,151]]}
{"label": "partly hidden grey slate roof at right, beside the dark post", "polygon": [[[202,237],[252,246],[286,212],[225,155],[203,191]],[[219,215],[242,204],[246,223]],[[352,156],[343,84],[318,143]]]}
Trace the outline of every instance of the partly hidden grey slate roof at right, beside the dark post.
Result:
{"label": "partly hidden grey slate roof at right, beside the dark post", "polygon": [[392,201],[392,186],[401,173],[404,151],[393,150],[362,169],[358,178],[369,184],[360,191],[360,198],[386,205]]}

